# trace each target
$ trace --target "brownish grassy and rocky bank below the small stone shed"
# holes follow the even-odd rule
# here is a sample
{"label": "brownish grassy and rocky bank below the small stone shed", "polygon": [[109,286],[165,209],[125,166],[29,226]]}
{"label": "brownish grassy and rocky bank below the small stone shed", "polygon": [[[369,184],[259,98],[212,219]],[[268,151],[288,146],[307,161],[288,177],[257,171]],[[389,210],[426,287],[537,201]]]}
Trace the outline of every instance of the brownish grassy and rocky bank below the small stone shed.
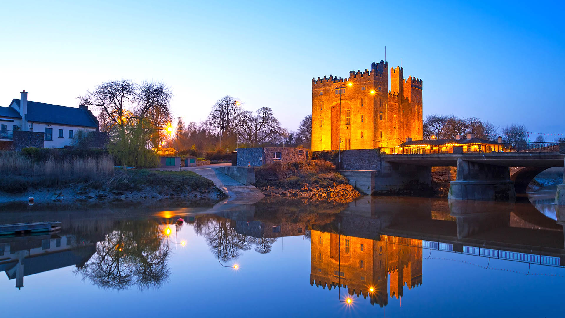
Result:
{"label": "brownish grassy and rocky bank below the small stone shed", "polygon": [[255,169],[256,186],[268,196],[351,201],[359,196],[328,161],[275,163]]}

